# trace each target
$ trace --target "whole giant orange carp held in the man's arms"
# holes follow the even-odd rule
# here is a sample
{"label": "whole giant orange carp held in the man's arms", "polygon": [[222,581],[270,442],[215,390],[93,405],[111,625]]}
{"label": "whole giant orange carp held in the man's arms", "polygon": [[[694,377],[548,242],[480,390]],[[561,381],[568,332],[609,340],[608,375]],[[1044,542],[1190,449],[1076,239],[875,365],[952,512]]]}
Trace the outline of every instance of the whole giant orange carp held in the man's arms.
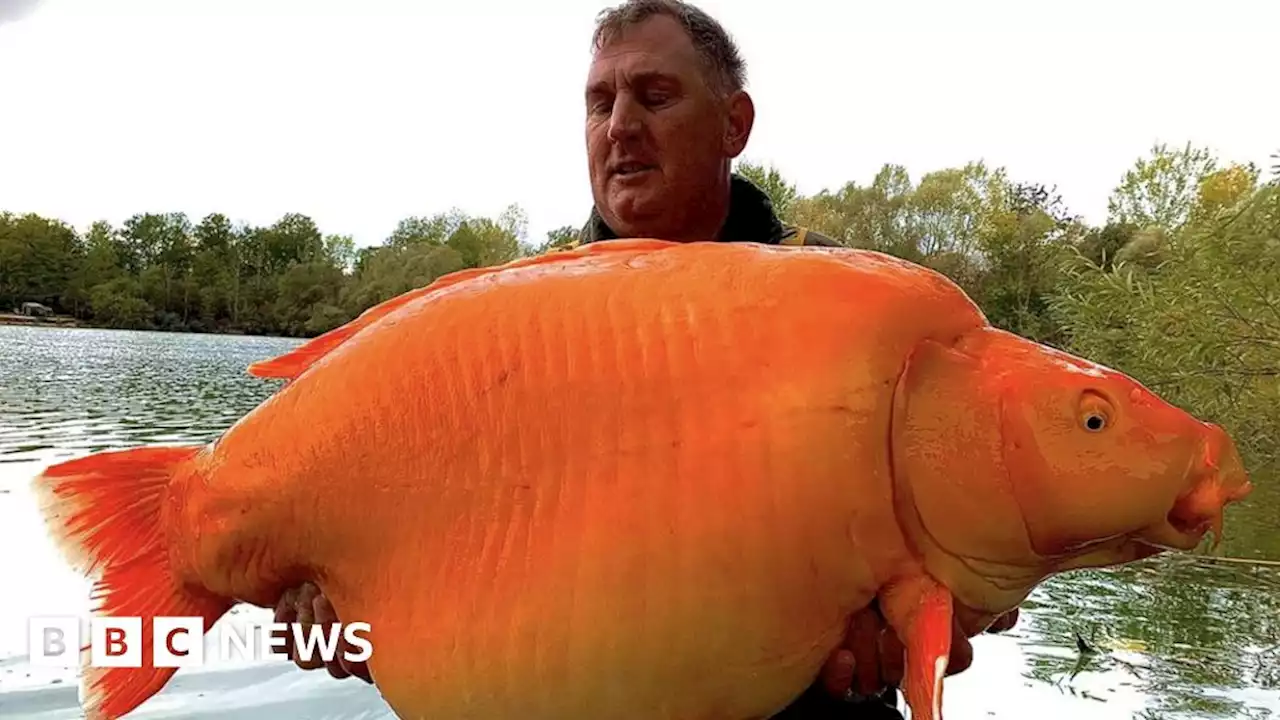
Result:
{"label": "whole giant orange carp held in the man's arms", "polygon": [[[52,534],[106,615],[316,583],[413,720],[767,717],[877,598],[938,719],[954,618],[1220,538],[1249,491],[1220,428],[860,250],[588,245],[252,372],[288,383],[215,442],[44,473]],[[88,717],[161,689],[143,656],[84,671]]]}

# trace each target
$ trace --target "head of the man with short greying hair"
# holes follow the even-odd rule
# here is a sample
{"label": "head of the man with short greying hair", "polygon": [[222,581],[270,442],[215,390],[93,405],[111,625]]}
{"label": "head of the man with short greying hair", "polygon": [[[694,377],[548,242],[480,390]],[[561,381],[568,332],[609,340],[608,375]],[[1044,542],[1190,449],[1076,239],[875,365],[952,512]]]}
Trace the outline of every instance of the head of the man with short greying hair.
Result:
{"label": "head of the man with short greying hair", "polygon": [[595,208],[622,237],[712,240],[755,110],[724,28],[680,0],[600,13],[586,81]]}

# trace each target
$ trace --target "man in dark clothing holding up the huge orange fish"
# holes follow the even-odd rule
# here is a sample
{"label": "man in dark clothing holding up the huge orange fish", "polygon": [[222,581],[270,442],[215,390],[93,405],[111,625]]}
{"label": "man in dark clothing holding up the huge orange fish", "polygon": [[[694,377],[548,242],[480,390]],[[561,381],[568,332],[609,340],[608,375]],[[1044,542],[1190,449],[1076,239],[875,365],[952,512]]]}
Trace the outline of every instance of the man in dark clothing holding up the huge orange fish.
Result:
{"label": "man in dark clothing holding up the huge orange fish", "polygon": [[[676,241],[837,245],[829,237],[782,223],[768,197],[731,165],[746,146],[755,119],[745,92],[744,63],[724,29],[680,0],[628,0],[600,14],[586,82],[586,147],[594,209],[572,245],[621,237]],[[278,621],[335,623],[329,602],[312,585],[285,593]],[[873,610],[859,618],[860,634],[879,647],[883,694],[850,692],[854,655],[836,652],[822,678],[776,719],[895,719],[901,644]],[[1016,612],[992,630],[1012,626]],[[867,625],[869,623],[869,625]],[[850,635],[854,633],[851,632]],[[855,644],[852,638],[846,643]],[[972,648],[956,629],[948,673],[964,670]],[[320,661],[297,660],[301,667]],[[337,661],[338,678],[370,680],[364,665]]]}

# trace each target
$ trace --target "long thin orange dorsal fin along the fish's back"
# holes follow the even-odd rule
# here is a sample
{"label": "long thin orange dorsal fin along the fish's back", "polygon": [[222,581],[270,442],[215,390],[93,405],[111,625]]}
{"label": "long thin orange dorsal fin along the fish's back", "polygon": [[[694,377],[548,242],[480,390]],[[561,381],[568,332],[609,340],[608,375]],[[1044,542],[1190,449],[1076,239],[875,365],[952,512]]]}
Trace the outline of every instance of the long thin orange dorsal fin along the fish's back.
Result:
{"label": "long thin orange dorsal fin along the fish's back", "polygon": [[554,263],[564,263],[570,260],[576,260],[588,255],[599,255],[602,252],[649,252],[652,250],[662,250],[664,247],[671,247],[678,245],[676,242],[666,240],[609,240],[600,242],[589,242],[586,245],[580,245],[576,247],[570,247],[566,250],[553,250],[544,255],[534,255],[531,258],[520,258],[502,265],[490,265],[486,268],[467,268],[465,270],[457,270],[445,275],[440,275],[435,281],[413,288],[408,292],[403,292],[384,300],[378,305],[365,310],[356,319],[351,320],[344,325],[339,325],[324,334],[316,336],[307,342],[300,345],[298,347],[271,357],[269,360],[261,360],[253,363],[248,366],[248,374],[256,378],[274,378],[292,380],[301,375],[307,368],[314,365],[317,360],[332,352],[335,347],[351,340],[352,336],[360,331],[367,328],[369,325],[376,323],[381,318],[399,310],[401,307],[413,302],[415,300],[428,297],[434,295],[447,287],[456,286],[461,282],[470,281],[472,278],[492,275],[495,273],[502,273],[506,270],[513,270],[518,268],[529,268],[532,265],[548,265]]}

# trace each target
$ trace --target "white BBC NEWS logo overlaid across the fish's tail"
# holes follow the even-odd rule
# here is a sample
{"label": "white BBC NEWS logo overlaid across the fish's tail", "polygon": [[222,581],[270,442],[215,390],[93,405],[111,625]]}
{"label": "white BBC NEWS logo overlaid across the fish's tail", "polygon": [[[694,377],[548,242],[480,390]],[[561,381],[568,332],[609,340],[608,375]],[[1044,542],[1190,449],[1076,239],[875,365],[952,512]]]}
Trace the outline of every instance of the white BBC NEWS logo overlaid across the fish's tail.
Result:
{"label": "white BBC NEWS logo overlaid across the fish's tail", "polygon": [[[205,664],[206,637],[204,618],[155,618],[152,620],[151,647],[142,633],[142,618],[92,618],[88,621],[90,666],[141,667],[142,652],[151,652],[155,667],[193,667]],[[372,643],[362,637],[369,633],[369,623],[349,623],[321,628],[305,628],[301,623],[246,623],[241,628],[223,626],[212,638],[219,660],[269,660],[279,657],[287,637],[293,639],[298,657],[332,662],[339,656],[340,641],[351,650],[342,652],[349,662],[365,662],[374,653]],[[32,618],[28,625],[28,655],[31,664],[46,667],[78,667],[84,643],[79,618]]]}

